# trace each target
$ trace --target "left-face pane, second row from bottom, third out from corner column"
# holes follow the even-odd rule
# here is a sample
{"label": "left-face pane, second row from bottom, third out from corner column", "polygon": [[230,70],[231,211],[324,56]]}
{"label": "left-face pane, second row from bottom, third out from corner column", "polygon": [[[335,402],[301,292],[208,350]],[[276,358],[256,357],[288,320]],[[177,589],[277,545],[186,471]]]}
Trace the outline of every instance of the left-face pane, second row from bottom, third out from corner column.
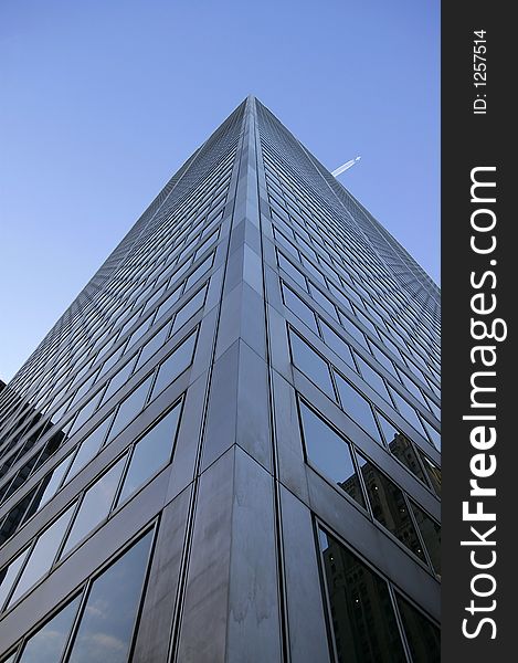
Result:
{"label": "left-face pane, second row from bottom, third out from corner column", "polygon": [[44,576],[46,571],[49,571],[54,561],[61,540],[63,539],[63,535],[68,527],[74,508],[75,504],[70,506],[68,509],[36,539],[36,544],[32,548],[31,556],[20,576],[20,580],[14,588],[9,604],[12,604],[42,576]]}

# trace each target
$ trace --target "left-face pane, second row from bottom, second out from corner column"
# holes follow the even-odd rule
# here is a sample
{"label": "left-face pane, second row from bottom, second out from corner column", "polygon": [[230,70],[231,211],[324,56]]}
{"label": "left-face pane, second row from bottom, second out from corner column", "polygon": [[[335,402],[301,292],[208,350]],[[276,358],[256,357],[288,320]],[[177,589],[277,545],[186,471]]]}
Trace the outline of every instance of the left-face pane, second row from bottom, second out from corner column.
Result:
{"label": "left-face pane, second row from bottom, second out from corner column", "polygon": [[125,462],[126,455],[86,491],[61,556],[66,555],[109,514]]}

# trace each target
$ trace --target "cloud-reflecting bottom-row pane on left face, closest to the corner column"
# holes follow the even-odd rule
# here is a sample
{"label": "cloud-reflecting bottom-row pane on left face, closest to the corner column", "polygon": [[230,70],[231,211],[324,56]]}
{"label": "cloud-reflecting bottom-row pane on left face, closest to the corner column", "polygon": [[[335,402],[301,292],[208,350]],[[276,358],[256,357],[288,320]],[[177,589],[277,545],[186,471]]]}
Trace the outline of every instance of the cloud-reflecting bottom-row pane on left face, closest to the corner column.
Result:
{"label": "cloud-reflecting bottom-row pane on left face, closest to the corner column", "polygon": [[68,663],[127,661],[151,537],[142,537],[93,583]]}

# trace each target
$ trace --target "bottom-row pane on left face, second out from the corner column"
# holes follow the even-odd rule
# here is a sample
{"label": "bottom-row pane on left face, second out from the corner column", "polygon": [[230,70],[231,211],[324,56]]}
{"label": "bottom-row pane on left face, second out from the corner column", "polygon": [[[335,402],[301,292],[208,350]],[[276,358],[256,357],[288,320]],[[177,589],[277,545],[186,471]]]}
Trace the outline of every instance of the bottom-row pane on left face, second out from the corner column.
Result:
{"label": "bottom-row pane on left face, second out from the corner column", "polygon": [[61,661],[80,607],[77,597],[30,638],[19,663],[56,663]]}

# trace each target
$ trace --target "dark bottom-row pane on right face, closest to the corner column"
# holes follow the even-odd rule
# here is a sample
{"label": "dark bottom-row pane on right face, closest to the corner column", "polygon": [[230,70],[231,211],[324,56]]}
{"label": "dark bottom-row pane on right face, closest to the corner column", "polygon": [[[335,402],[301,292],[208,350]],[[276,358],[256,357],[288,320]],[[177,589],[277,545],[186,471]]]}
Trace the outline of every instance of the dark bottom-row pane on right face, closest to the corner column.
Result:
{"label": "dark bottom-row pane on right face, closest to the corner column", "polygon": [[387,582],[320,530],[339,663],[406,663]]}

